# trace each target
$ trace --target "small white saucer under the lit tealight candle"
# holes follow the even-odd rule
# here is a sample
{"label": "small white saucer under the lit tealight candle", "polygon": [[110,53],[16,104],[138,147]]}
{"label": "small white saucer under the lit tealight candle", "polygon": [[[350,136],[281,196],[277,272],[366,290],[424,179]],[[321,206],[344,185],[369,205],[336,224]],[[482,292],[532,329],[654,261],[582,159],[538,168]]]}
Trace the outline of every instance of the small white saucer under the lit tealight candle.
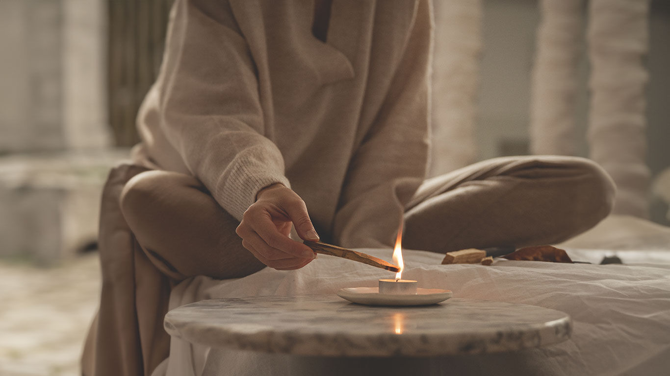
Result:
{"label": "small white saucer under the lit tealight candle", "polygon": [[369,306],[424,306],[442,302],[453,295],[450,290],[439,288],[417,288],[417,293],[411,295],[379,294],[377,287],[340,288],[337,294],[350,302]]}

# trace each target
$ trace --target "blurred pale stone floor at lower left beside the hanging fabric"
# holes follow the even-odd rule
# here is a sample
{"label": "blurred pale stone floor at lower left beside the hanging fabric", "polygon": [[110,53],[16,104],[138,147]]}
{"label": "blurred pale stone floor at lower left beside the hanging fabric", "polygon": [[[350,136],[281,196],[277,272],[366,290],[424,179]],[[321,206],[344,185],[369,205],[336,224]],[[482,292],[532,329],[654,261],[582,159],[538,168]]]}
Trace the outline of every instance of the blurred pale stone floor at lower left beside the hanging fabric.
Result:
{"label": "blurred pale stone floor at lower left beside the hanging fabric", "polygon": [[99,292],[97,252],[54,268],[0,260],[0,375],[80,375]]}

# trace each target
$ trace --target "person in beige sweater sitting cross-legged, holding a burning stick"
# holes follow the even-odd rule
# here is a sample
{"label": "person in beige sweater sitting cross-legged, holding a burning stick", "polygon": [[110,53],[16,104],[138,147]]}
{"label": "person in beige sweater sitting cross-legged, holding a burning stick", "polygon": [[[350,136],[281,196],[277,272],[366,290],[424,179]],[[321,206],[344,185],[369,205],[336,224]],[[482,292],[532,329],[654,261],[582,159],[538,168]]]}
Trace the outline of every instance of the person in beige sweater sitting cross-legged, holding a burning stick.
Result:
{"label": "person in beige sweater sitting cross-legged, holding a burning stick", "polygon": [[[314,260],[300,240],[432,252],[560,242],[610,212],[592,161],[503,157],[424,180],[427,0],[176,0],[133,163],[103,195],[84,375],[149,375],[170,288]],[[295,228],[295,231],[292,231]]]}

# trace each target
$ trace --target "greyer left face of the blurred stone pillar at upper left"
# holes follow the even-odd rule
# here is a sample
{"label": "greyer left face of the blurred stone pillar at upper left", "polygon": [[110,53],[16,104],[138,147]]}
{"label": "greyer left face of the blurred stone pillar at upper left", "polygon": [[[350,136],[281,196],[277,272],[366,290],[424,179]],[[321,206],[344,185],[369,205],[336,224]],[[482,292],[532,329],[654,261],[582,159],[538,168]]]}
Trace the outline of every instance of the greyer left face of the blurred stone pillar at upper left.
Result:
{"label": "greyer left face of the blurred stone pillar at upper left", "polygon": [[0,155],[64,147],[61,23],[60,1],[0,1]]}

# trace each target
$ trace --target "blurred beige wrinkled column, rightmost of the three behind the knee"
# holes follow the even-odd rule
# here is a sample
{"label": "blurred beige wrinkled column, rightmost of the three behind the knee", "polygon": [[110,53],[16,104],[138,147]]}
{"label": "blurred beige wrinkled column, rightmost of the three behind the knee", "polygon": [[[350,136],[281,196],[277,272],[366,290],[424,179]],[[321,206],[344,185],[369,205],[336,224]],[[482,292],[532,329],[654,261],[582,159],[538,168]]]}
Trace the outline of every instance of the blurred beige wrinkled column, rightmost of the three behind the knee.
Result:
{"label": "blurred beige wrinkled column, rightmost of the three behind the knee", "polygon": [[616,183],[614,213],[647,217],[649,0],[590,0],[589,18],[590,156]]}

